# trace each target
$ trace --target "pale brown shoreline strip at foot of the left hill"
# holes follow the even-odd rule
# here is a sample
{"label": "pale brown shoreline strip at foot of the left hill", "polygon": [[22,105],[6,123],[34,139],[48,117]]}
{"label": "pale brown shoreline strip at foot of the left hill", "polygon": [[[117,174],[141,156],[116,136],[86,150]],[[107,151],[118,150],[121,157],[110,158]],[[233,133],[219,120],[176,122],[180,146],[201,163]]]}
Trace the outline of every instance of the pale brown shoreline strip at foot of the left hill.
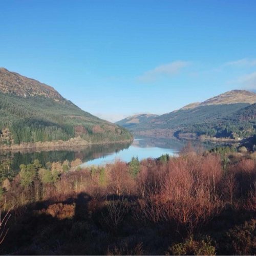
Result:
{"label": "pale brown shoreline strip at foot of the left hill", "polygon": [[86,140],[82,140],[79,138],[71,138],[70,140],[57,140],[57,141],[46,141],[46,142],[26,142],[23,144],[15,144],[15,145],[4,145],[0,146],[0,152],[19,152],[21,150],[39,150],[44,151],[44,149],[52,149],[57,150],[57,148],[61,148],[63,150],[69,150],[70,148],[76,149],[86,146],[93,145],[108,145],[108,144],[124,144],[124,143],[132,143],[134,138],[131,140],[118,140],[118,141],[104,141],[104,142],[88,142]]}

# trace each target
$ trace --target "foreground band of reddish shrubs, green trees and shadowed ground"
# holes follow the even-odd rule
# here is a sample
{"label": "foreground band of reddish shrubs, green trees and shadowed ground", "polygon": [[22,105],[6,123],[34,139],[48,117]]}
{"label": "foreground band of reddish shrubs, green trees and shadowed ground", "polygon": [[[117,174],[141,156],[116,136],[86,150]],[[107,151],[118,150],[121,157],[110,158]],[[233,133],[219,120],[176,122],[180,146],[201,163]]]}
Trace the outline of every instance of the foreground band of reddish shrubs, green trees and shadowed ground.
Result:
{"label": "foreground band of reddish shrubs, green trees and shadowed ground", "polygon": [[188,147],[74,169],[34,161],[3,182],[2,208],[13,208],[2,254],[256,252],[254,153]]}

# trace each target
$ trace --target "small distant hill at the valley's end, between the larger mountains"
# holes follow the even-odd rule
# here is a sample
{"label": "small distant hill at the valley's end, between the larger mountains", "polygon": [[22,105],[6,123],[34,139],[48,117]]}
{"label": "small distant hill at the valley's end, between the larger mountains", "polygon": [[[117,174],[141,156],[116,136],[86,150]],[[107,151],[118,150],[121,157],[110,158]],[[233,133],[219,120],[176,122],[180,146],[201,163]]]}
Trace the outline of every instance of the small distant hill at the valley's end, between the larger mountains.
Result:
{"label": "small distant hill at the valley's end, between the larger mountains", "polygon": [[126,129],[131,129],[133,126],[138,125],[139,123],[149,122],[155,117],[158,117],[158,115],[154,114],[137,114],[133,116],[126,117],[118,122],[116,124],[125,127]]}

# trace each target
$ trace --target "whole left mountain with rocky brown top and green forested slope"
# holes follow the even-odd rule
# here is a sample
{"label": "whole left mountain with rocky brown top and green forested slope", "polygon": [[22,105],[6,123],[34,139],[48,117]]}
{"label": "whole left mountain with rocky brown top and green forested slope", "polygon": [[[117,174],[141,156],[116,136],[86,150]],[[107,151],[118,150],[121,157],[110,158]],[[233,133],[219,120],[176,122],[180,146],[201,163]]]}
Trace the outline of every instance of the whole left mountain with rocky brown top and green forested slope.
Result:
{"label": "whole left mountain with rocky brown top and green forested slope", "polygon": [[82,111],[52,87],[4,68],[0,69],[0,116],[0,148],[132,139],[122,127]]}

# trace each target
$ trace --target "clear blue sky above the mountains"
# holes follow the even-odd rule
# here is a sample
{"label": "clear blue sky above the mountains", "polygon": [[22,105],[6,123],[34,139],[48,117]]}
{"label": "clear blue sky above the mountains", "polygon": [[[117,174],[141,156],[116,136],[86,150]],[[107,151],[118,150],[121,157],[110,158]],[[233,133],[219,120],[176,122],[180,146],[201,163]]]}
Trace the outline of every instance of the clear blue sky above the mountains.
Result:
{"label": "clear blue sky above the mountains", "polygon": [[256,90],[254,0],[0,4],[0,66],[101,118]]}

